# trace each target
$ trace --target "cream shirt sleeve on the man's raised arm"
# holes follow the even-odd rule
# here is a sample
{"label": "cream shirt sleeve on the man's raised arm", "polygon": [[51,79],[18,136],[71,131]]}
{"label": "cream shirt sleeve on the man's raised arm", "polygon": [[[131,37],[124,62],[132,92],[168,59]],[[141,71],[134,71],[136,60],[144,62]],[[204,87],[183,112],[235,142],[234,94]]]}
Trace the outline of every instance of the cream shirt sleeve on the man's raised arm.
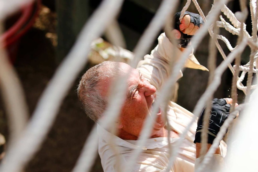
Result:
{"label": "cream shirt sleeve on the man's raised arm", "polygon": [[[182,54],[183,52],[169,41],[165,33],[162,33],[158,37],[158,45],[151,51],[151,54],[144,56],[144,60],[138,63],[137,68],[157,90],[160,90],[163,83],[170,77],[172,71],[171,66],[180,59]],[[193,50],[192,53],[189,54],[184,67],[208,70],[196,60],[193,55]],[[183,74],[180,70],[177,79],[182,76]]]}

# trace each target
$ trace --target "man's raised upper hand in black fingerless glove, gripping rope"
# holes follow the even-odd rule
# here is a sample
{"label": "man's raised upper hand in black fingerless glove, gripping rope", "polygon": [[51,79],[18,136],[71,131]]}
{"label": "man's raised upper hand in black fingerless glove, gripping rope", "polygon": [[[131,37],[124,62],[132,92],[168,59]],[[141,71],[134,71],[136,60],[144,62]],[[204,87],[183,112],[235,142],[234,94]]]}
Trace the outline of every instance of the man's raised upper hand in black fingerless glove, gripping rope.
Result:
{"label": "man's raised upper hand in black fingerless glove, gripping rope", "polygon": [[[175,39],[178,39],[178,47],[179,48],[186,48],[189,44],[192,35],[195,35],[198,29],[201,27],[201,25],[204,23],[203,19],[199,14],[190,13],[188,11],[185,12],[185,15],[183,16],[183,19],[180,23],[181,12],[177,12],[175,14],[175,25],[174,30],[171,31],[171,29],[167,30],[165,29],[166,36],[170,39],[170,42],[172,42],[172,37]],[[167,31],[171,31],[168,33]]]}

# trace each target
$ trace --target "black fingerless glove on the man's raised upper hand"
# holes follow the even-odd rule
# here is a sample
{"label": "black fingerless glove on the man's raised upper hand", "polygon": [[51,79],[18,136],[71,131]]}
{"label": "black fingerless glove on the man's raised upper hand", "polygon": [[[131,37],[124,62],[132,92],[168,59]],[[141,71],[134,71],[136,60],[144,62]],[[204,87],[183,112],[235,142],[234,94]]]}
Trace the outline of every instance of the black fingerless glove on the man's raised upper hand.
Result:
{"label": "black fingerless glove on the man's raised upper hand", "polygon": [[[195,13],[191,13],[191,12],[188,12],[186,11],[184,15],[186,14],[189,14],[190,15],[190,18],[191,18],[191,22],[194,23],[194,25],[200,27],[201,24],[204,23],[203,19],[201,18],[201,16],[199,14],[195,14]],[[180,31],[180,28],[179,28],[179,25],[181,24],[180,23],[180,15],[181,15],[181,12],[177,12],[175,15],[174,15],[174,18],[175,18],[175,25],[174,25],[174,28],[177,29],[178,31]],[[170,28],[170,31],[172,29]],[[178,46],[179,47],[183,47],[183,48],[186,48],[188,43],[191,41],[191,38],[192,38],[192,35],[187,35],[187,34],[183,34],[183,32],[181,32],[181,37],[180,39],[178,39]],[[166,34],[166,33],[165,33]],[[166,34],[167,35],[167,34]],[[167,36],[168,37],[168,36]],[[172,41],[170,41],[172,42]]]}

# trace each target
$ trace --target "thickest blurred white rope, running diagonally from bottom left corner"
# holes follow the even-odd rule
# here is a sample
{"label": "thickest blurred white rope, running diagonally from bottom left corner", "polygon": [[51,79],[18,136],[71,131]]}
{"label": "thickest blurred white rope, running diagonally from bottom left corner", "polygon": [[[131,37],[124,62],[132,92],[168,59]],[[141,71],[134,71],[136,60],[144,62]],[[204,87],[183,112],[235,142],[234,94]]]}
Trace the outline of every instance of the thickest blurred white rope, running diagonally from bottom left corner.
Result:
{"label": "thickest blurred white rope, running diagonally from bottom left corner", "polygon": [[[1,163],[0,171],[21,171],[38,150],[54,122],[66,92],[87,61],[85,54],[88,54],[91,42],[100,36],[107,24],[114,19],[122,2],[122,0],[103,1],[98,10],[88,20],[74,47],[43,92],[31,121],[22,133],[22,138],[8,147],[7,154],[4,157],[5,163]],[[15,165],[13,165],[13,162],[15,162]]]}

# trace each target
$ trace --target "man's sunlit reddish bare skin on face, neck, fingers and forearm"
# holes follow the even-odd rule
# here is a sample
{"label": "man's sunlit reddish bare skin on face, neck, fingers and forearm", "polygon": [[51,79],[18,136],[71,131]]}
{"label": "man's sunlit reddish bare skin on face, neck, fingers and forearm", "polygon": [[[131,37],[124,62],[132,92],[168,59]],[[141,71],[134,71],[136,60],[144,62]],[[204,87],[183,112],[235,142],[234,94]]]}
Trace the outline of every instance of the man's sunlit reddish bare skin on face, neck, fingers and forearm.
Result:
{"label": "man's sunlit reddish bare skin on face, neck, fingers and forearm", "polygon": [[[195,26],[190,22],[190,16],[188,14],[183,17],[179,28],[184,34],[189,35],[195,35],[199,29],[198,26]],[[171,32],[176,39],[180,38],[179,31],[174,29]],[[185,48],[180,48],[180,50],[184,51]],[[118,64],[122,66],[122,75],[125,75],[128,72],[130,75],[127,82],[127,98],[124,100],[119,119],[117,120],[117,136],[125,140],[137,140],[139,138],[145,119],[148,115],[150,115],[151,106],[155,98],[156,88],[152,86],[147,80],[145,80],[137,69],[133,69],[125,63]],[[103,81],[104,84],[100,85],[103,96],[107,96],[107,90],[109,89],[112,80],[112,78],[107,78]],[[232,103],[231,98],[225,99],[227,103]],[[167,136],[168,131],[165,129],[165,122],[163,121],[162,111],[160,110],[157,113],[157,119],[155,121],[150,137],[156,138]],[[176,132],[172,131],[171,137],[178,137],[178,135]],[[207,145],[208,148],[210,148],[210,146],[211,144]],[[200,149],[201,143],[197,143],[197,158],[200,156]],[[220,154],[220,150],[217,149],[215,153]]]}

